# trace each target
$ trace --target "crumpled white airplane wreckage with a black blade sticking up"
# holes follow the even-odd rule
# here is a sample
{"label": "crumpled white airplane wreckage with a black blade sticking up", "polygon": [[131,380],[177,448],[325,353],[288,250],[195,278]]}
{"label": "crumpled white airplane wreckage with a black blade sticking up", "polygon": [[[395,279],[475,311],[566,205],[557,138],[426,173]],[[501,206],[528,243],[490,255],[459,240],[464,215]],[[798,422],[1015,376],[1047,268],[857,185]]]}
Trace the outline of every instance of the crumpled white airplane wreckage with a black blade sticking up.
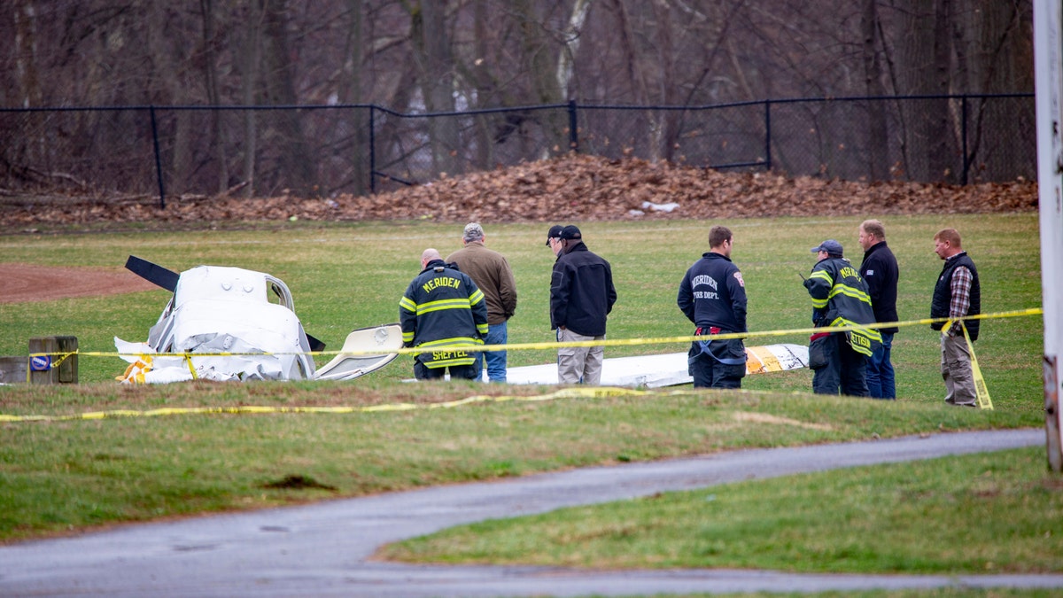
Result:
{"label": "crumpled white airplane wreckage with a black blade sticking up", "polygon": [[122,382],[353,380],[391,363],[398,356],[393,351],[402,348],[398,323],[362,328],[347,336],[336,358],[315,369],[309,353],[324,349],[324,343],[303,330],[281,279],[221,266],[178,273],[135,255],[125,267],[173,297],[147,343],[115,337],[130,363],[118,377]]}

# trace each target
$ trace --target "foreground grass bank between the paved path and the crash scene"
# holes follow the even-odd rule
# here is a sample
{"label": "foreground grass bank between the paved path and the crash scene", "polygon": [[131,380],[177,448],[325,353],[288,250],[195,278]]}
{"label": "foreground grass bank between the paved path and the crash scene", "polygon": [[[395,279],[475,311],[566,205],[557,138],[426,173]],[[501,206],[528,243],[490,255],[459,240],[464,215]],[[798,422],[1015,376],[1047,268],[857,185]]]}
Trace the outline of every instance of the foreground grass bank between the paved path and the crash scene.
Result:
{"label": "foreground grass bank between the paved path and the crash scene", "polygon": [[[272,386],[281,392],[272,394]],[[195,383],[136,388],[133,397],[68,391],[52,405],[40,404],[31,389],[5,389],[0,397],[5,413],[89,406],[80,401],[103,409],[408,401],[427,408],[483,389],[472,382],[403,384],[400,393],[421,395],[409,397],[387,389],[354,392],[339,383],[308,386]],[[0,486],[5,488],[0,539],[738,447],[1036,423],[1027,414],[1002,410],[711,392],[344,415],[7,423],[0,444]],[[315,483],[279,483],[294,478]]]}

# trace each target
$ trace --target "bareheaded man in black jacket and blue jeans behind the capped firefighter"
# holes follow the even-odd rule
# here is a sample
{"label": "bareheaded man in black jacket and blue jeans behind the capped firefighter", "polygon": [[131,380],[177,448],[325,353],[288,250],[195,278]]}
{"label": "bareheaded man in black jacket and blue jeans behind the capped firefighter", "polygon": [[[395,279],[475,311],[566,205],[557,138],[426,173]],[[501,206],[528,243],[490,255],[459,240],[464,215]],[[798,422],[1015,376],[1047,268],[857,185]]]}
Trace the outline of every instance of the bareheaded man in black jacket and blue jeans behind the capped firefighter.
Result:
{"label": "bareheaded man in black jacket and blue jeans behind the capped firefighter", "polygon": [[[864,220],[857,231],[857,242],[864,250],[860,276],[867,283],[867,295],[875,321],[897,321],[897,279],[900,270],[893,251],[885,245],[885,227],[878,220]],[[867,392],[873,399],[896,399],[897,389],[890,363],[896,327],[880,328],[882,344],[867,359]]]}

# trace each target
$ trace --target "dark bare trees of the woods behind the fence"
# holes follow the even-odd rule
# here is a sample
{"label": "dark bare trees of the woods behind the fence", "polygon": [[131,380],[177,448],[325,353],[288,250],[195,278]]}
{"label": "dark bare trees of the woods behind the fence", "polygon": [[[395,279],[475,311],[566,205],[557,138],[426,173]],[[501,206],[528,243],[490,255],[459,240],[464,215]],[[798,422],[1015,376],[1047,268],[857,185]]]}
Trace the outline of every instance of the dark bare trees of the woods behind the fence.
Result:
{"label": "dark bare trees of the woods behind the fence", "polygon": [[[2,107],[158,107],[175,194],[362,194],[370,147],[421,182],[568,150],[563,109],[425,113],[1033,90],[1030,0],[7,0],[0,39]],[[341,107],[165,107],[297,104]],[[967,143],[976,180],[1033,171],[1032,99],[823,105],[772,117],[773,167],[956,182]],[[763,160],[763,112],[581,112],[580,150]],[[0,185],[147,193],[151,127],[0,113]]]}

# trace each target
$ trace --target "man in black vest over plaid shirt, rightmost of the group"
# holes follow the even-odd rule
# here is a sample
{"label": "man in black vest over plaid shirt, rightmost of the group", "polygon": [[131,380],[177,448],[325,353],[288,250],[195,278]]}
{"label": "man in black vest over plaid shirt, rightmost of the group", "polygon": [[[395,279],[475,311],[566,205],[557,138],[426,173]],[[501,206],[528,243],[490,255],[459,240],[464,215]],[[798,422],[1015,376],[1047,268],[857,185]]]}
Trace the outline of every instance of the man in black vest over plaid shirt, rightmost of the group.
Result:
{"label": "man in black vest over plaid shirt, rightmost of the group", "polygon": [[966,326],[971,340],[978,338],[977,319],[965,316],[981,313],[981,287],[978,270],[967,252],[960,246],[956,229],[942,229],[933,235],[933,250],[945,261],[930,303],[931,318],[949,318],[946,322],[930,325],[941,330],[941,377],[945,380],[945,402],[954,405],[978,406],[975,377],[971,372],[971,349],[963,334]]}

